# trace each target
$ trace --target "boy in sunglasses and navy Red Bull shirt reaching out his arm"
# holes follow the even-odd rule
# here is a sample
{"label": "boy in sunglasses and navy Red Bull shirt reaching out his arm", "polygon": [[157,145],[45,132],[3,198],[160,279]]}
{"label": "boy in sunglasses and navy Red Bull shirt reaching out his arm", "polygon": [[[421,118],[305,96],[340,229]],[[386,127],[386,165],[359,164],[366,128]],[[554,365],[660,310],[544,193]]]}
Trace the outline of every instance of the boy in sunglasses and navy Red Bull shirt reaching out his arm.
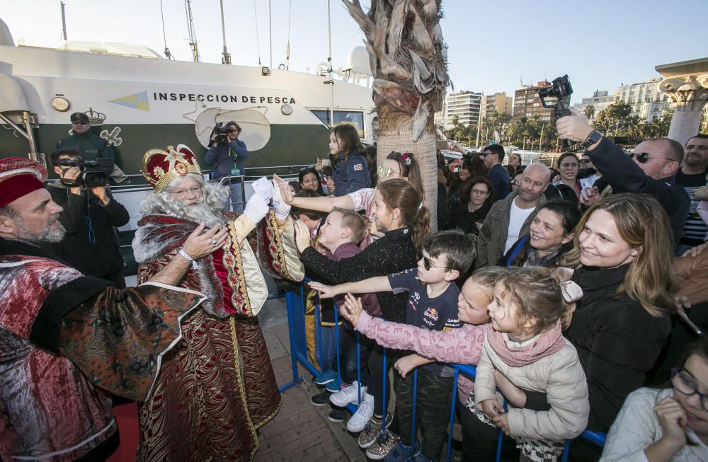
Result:
{"label": "boy in sunglasses and navy Red Bull shirt reaching out his arm", "polygon": [[[459,289],[455,279],[463,275],[475,258],[474,238],[461,231],[442,231],[423,241],[422,258],[418,267],[388,276],[371,277],[333,287],[319,282],[310,287],[320,291],[322,298],[347,293],[393,291],[408,293],[406,324],[428,330],[448,331],[462,327],[457,317]],[[420,366],[420,367],[418,367]],[[408,354],[396,362],[400,375],[394,376],[396,414],[389,429],[370,446],[367,456],[374,460],[389,454],[394,460],[416,458],[429,461],[438,457],[445,440],[447,418],[454,383],[450,366],[433,359]],[[412,439],[413,382],[411,371],[418,367],[416,415],[423,434],[421,447]],[[421,457],[422,456],[422,457]]]}

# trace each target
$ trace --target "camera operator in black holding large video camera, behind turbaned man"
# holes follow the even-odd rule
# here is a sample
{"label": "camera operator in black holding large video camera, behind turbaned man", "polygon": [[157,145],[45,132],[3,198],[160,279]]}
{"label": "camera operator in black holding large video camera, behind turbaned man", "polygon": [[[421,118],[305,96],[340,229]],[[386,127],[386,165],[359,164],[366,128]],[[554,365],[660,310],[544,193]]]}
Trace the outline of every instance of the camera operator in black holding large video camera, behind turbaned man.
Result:
{"label": "camera operator in black holding large video camera, behind turbaned man", "polygon": [[84,275],[100,277],[113,282],[118,289],[125,289],[116,227],[127,224],[130,216],[113,199],[108,186],[84,187],[77,183],[81,176],[79,167],[58,164],[61,159],[77,158],[81,156],[75,149],[59,149],[51,156],[60,180],[47,185],[47,191],[64,208],[59,222],[67,229],[64,239],[53,244],[55,253]]}

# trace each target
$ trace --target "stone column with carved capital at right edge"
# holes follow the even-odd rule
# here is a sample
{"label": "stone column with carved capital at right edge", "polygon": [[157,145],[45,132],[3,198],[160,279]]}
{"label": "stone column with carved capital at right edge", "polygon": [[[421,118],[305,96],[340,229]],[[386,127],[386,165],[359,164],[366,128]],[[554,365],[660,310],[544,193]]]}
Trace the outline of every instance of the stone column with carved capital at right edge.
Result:
{"label": "stone column with carved capital at right edge", "polygon": [[668,137],[684,146],[700,129],[708,100],[708,74],[663,79],[658,90],[668,94],[669,107],[674,111]]}

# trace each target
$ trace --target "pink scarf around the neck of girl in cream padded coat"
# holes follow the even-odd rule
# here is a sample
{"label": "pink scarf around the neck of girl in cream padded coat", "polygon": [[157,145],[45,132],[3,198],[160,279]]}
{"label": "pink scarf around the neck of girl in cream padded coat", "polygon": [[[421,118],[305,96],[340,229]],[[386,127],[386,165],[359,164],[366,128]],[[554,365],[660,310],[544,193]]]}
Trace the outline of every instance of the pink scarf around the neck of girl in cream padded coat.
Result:
{"label": "pink scarf around the neck of girl in cream padded coat", "polygon": [[506,342],[508,334],[493,330],[491,324],[487,327],[486,337],[494,352],[503,362],[512,367],[521,367],[537,362],[539,359],[561,350],[566,345],[560,320],[549,330],[544,330],[536,340],[520,348],[509,348]]}

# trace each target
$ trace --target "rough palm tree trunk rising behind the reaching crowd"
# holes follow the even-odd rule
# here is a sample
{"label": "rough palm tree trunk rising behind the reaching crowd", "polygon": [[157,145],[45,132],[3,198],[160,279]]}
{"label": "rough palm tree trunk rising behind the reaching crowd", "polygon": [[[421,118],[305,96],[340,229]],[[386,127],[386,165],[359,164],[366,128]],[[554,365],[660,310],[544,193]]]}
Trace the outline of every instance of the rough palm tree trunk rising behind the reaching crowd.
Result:
{"label": "rough palm tree trunk rising behind the reaching crowd", "polygon": [[379,128],[377,162],[391,151],[411,152],[421,166],[431,229],[437,228],[438,172],[433,115],[442,110],[447,47],[440,30],[440,0],[342,0],[365,35],[374,76]]}

